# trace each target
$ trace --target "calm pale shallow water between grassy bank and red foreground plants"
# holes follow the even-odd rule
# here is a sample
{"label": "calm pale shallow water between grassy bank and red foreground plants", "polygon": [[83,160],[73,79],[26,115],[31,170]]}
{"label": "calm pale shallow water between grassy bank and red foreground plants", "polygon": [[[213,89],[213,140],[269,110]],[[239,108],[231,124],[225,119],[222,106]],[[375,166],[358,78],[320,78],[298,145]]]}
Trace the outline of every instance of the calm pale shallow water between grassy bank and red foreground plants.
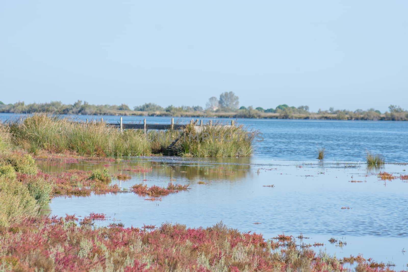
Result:
{"label": "calm pale shallow water between grassy bank and red foreground plants", "polygon": [[[191,159],[172,157],[128,158],[113,162],[84,162],[64,166],[39,162],[47,172],[106,167],[111,175],[126,172],[128,181],[112,184],[166,186],[190,184],[190,190],[145,201],[133,193],[55,197],[51,215],[78,216],[103,212],[125,226],[178,222],[190,227],[211,226],[223,221],[241,231],[294,236],[303,232],[310,243],[324,243],[338,257],[363,253],[376,261],[392,261],[403,269],[402,248],[408,248],[408,183],[380,180],[378,172],[399,177],[407,166],[386,164],[381,169],[366,164],[265,161],[254,158]],[[145,167],[136,173],[119,169]],[[351,180],[362,181],[351,183]],[[204,184],[199,184],[204,181]],[[263,187],[265,185],[274,187]],[[341,209],[349,207],[349,209]],[[253,224],[259,222],[261,224]],[[101,223],[110,223],[102,221]],[[330,245],[330,237],[344,239],[343,248]],[[306,241],[309,243],[309,241]]]}

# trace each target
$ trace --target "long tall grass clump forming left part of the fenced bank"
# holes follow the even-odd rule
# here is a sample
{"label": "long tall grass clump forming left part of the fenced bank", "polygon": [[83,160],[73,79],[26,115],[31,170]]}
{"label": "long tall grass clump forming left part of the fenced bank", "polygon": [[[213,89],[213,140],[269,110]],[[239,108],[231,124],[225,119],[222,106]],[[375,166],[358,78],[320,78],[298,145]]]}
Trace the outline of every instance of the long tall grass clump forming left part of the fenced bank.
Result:
{"label": "long tall grass clump forming left part of the fenced bank", "polygon": [[38,114],[27,117],[20,124],[10,121],[14,144],[36,153],[74,151],[82,156],[138,156],[150,155],[150,144],[143,131],[125,130],[105,123],[80,123],[71,119]]}

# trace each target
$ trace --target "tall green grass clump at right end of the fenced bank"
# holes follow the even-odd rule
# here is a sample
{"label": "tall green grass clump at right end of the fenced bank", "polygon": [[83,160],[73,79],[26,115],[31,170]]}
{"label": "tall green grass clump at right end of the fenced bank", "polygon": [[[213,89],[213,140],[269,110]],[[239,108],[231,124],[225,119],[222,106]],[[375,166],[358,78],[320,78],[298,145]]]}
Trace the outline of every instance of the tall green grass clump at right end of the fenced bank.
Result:
{"label": "tall green grass clump at right end of the fenced bank", "polygon": [[177,156],[246,157],[252,153],[254,137],[255,133],[247,133],[243,126],[205,126],[196,132],[188,125],[170,151]]}

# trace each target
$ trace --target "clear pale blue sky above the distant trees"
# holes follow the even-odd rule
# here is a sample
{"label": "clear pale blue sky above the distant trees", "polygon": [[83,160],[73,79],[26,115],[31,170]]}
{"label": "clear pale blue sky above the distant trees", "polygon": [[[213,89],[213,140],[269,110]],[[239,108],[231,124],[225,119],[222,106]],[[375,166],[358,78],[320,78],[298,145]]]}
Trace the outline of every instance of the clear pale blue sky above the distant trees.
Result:
{"label": "clear pale blue sky above the distant trees", "polygon": [[0,2],[0,101],[408,108],[408,1]]}

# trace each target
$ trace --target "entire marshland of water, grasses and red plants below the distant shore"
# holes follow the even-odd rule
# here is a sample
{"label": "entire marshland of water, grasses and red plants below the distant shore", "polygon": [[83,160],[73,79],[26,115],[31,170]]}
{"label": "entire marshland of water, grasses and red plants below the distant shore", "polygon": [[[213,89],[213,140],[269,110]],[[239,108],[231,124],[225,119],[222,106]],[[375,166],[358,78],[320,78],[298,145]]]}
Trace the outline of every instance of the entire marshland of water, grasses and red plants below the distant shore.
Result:
{"label": "entire marshland of water, grasses and red plants below the distant shore", "polygon": [[0,269],[407,269],[405,122],[236,119],[263,140],[170,156],[178,134],[149,142],[86,118],[2,119]]}

